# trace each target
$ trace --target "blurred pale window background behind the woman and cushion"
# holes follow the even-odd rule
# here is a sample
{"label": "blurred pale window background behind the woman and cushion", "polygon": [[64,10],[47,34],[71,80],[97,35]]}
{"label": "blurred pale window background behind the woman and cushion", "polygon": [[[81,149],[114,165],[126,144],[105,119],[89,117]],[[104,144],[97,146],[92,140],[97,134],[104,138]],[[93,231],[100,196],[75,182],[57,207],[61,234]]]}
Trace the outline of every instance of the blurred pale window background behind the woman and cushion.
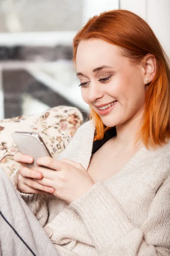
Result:
{"label": "blurred pale window background behind the woman and cushion", "polygon": [[86,117],[72,41],[90,17],[111,9],[141,16],[170,56],[170,0],[0,0],[0,119],[57,105]]}

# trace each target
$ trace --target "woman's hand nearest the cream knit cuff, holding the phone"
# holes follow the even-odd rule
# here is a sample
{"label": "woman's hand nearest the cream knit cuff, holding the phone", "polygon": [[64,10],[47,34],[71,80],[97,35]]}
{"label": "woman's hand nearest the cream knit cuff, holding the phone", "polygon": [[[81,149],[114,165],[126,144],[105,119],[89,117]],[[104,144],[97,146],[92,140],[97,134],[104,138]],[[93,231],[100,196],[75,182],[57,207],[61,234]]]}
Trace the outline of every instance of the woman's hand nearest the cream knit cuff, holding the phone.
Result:
{"label": "woman's hand nearest the cream knit cuff, holding the phone", "polygon": [[58,161],[52,157],[39,157],[36,163],[51,169],[32,167],[32,170],[42,172],[43,177],[36,179],[37,183],[54,188],[54,191],[49,192],[69,204],[94,185],[91,176],[80,163],[65,158]]}

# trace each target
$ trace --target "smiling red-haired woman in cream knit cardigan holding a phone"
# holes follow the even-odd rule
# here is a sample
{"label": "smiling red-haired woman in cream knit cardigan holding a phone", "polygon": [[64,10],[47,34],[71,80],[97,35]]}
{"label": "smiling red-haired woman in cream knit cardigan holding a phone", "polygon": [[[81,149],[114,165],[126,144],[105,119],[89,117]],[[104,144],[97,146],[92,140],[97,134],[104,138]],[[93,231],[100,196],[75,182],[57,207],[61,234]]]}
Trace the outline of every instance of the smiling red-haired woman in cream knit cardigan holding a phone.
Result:
{"label": "smiling red-haired woman in cream knit cardigan holding a phone", "polygon": [[89,19],[73,50],[90,120],[57,160],[37,160],[51,170],[14,156],[21,166],[12,183],[28,224],[36,217],[34,250],[45,255],[40,248],[50,244],[39,221],[57,255],[168,256],[169,59],[150,26],[122,9]]}

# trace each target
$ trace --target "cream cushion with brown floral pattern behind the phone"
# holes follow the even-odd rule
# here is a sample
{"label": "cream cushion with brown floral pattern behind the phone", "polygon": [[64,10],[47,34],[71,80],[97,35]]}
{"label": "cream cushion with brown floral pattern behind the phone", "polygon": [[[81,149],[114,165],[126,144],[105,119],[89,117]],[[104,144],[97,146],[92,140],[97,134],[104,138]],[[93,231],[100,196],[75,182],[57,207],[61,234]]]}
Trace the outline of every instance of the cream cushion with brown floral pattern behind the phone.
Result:
{"label": "cream cushion with brown floral pattern behind the phone", "polygon": [[40,134],[51,155],[57,158],[58,154],[68,146],[82,123],[82,113],[77,108],[69,106],[57,106],[44,113],[1,120],[0,167],[11,180],[11,175],[20,165],[13,160],[14,154],[19,152],[11,137],[14,131]]}

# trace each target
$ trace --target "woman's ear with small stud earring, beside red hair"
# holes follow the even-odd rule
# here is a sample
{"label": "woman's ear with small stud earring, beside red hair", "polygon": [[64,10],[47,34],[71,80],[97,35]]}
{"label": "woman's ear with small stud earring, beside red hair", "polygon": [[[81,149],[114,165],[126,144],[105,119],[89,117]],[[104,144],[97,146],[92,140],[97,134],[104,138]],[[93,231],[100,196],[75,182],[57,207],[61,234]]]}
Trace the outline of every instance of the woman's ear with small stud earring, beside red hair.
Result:
{"label": "woman's ear with small stud earring, beside red hair", "polygon": [[[145,55],[143,61],[144,68],[144,84],[149,84],[156,74],[156,57],[155,55],[148,53]],[[148,81],[146,81],[148,79]]]}

